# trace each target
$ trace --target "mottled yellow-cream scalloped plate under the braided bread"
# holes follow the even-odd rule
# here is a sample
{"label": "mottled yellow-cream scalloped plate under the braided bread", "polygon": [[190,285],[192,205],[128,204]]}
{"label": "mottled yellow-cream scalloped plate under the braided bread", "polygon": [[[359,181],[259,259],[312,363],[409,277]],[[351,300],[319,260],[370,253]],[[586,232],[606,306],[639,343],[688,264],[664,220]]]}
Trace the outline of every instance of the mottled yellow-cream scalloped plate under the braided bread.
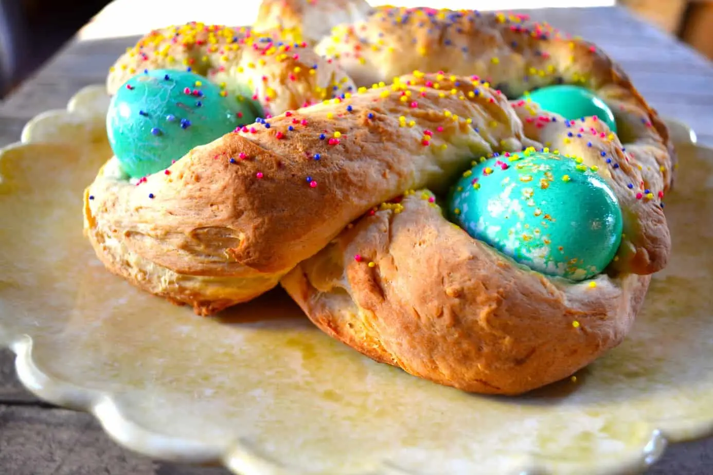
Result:
{"label": "mottled yellow-cream scalloped plate under the braided bread", "polygon": [[526,397],[379,365],[282,291],[200,318],[108,273],[82,190],[111,150],[101,86],[0,152],[0,344],[39,397],[93,413],[148,456],[243,475],[612,474],[713,430],[713,150],[671,121],[672,261],[622,345]]}

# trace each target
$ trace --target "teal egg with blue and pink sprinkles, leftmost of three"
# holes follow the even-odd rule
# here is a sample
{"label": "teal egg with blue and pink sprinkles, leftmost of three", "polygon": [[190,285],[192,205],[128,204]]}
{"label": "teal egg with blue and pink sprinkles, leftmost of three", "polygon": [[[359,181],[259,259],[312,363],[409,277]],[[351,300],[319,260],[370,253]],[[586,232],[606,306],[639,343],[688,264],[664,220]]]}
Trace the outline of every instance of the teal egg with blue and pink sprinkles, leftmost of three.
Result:
{"label": "teal egg with blue and pink sprinkles, leftmost of three", "polygon": [[135,75],[118,90],[106,130],[123,170],[140,178],[255,119],[248,103],[232,105],[219,86],[200,75],[154,70]]}

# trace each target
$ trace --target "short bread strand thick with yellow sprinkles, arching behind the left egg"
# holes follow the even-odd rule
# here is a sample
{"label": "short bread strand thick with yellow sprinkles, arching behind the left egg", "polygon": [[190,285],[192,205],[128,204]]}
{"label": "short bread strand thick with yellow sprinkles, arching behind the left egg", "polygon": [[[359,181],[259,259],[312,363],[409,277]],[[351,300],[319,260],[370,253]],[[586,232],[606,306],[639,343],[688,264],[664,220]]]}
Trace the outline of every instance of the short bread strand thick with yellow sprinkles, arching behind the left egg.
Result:
{"label": "short bread strand thick with yellow sprinkles, arching behind the left egg", "polygon": [[189,68],[219,84],[230,97],[257,101],[267,115],[354,89],[341,68],[304,43],[283,43],[282,34],[198,22],[151,31],[118,58],[107,89],[113,95],[145,70]]}

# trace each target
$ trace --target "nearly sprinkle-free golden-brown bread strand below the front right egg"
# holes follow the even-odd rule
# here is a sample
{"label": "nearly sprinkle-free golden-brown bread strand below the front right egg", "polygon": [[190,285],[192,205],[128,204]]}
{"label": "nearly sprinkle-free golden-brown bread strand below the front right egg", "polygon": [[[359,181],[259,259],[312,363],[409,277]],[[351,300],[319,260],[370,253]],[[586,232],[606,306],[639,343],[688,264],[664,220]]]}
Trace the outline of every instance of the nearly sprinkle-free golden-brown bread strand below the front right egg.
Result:
{"label": "nearly sprinkle-free golden-brown bread strand below the front right egg", "polygon": [[602,274],[595,287],[546,278],[448,223],[431,196],[364,217],[282,286],[364,355],[470,392],[561,380],[630,330],[650,276]]}

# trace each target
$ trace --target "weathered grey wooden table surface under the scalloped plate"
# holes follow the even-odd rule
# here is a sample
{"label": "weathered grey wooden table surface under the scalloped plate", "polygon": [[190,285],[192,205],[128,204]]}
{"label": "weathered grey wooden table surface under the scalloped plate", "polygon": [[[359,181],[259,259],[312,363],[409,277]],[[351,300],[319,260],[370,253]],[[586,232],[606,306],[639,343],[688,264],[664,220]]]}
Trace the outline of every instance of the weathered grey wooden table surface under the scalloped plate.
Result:
{"label": "weathered grey wooden table surface under the scalloped plate", "polygon": [[[125,9],[131,8],[130,0],[124,3]],[[102,22],[110,25],[120,21],[116,16],[119,4],[116,2],[110,16],[100,15],[88,28],[101,31]],[[701,142],[713,145],[712,63],[623,9],[542,9],[528,13],[598,43],[624,66],[662,115],[687,122]],[[0,147],[19,140],[24,123],[37,113],[63,108],[82,86],[103,83],[108,67],[135,40],[76,38],[68,43],[34,78],[0,103]],[[0,474],[228,474],[222,468],[159,463],[118,447],[93,417],[53,407],[27,392],[16,380],[13,361],[9,350],[0,350]],[[647,474],[713,474],[713,439],[675,444]]]}

